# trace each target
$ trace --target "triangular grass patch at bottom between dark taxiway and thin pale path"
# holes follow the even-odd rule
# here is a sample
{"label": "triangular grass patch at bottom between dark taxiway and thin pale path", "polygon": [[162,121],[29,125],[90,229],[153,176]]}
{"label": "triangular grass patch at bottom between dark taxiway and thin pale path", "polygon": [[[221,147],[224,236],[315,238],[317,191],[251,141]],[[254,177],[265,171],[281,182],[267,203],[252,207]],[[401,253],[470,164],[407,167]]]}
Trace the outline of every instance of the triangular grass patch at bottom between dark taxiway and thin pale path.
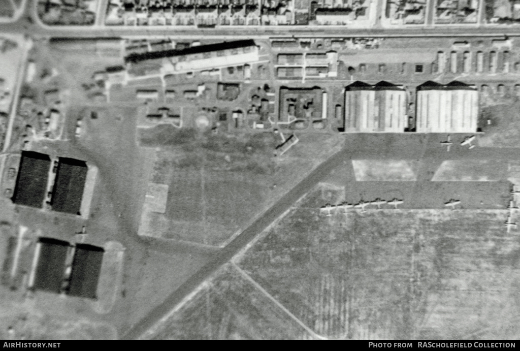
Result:
{"label": "triangular grass patch at bottom between dark taxiway and thin pale path", "polygon": [[224,266],[206,286],[150,339],[281,340],[308,339],[288,318],[231,265]]}

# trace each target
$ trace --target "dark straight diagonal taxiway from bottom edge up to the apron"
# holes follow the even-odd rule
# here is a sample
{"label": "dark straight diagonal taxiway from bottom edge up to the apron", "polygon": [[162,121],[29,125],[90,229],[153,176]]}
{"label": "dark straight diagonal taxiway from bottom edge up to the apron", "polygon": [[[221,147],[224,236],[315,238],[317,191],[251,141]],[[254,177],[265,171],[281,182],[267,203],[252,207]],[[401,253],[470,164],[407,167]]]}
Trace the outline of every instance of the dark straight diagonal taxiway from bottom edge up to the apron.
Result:
{"label": "dark straight diagonal taxiway from bottom edge up to the apron", "polygon": [[343,150],[335,153],[331,158],[319,165],[318,168],[305,177],[291,191],[285,194],[285,196],[274,206],[267,210],[267,212],[265,212],[260,218],[255,220],[251,226],[242,231],[239,236],[232,240],[224,249],[219,251],[212,261],[203,266],[187,282],[168,296],[163,303],[151,310],[144,319],[140,320],[131,330],[127,331],[125,335],[123,335],[123,339],[137,339],[146,333],[148,329],[152,328],[163,316],[167,315],[177,304],[179,304],[185,296],[195,290],[218,268],[227,263],[259,233],[274,222],[276,218],[278,218],[283,212],[287,211],[296,200],[300,199],[309,191],[309,189],[318,184],[318,182],[324,176],[328,175],[333,168],[347,159],[348,154]]}

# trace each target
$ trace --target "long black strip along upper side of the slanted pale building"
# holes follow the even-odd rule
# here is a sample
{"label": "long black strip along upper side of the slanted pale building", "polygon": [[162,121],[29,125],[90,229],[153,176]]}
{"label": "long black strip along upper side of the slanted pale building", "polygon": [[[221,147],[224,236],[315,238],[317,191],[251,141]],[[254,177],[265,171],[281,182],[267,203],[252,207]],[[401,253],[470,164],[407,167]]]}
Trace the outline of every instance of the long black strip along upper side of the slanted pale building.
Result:
{"label": "long black strip along upper side of the slanted pale building", "polygon": [[183,50],[165,50],[165,51],[155,51],[153,53],[143,53],[143,54],[130,54],[125,58],[126,62],[139,62],[145,60],[152,59],[160,59],[165,57],[175,57],[175,56],[184,56],[191,54],[202,54],[209,53],[212,51],[220,51],[226,49],[237,49],[241,47],[255,46],[254,40],[239,40],[234,42],[224,42],[217,44],[208,44],[201,46],[189,47]]}

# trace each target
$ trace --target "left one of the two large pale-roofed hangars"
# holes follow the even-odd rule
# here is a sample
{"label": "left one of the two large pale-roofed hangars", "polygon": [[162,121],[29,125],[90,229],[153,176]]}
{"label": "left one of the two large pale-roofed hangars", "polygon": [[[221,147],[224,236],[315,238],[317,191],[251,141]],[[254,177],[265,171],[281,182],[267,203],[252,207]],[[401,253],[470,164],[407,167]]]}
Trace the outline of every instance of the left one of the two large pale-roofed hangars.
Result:
{"label": "left one of the two large pale-roofed hangars", "polygon": [[355,82],[345,90],[344,132],[403,133],[408,127],[406,91],[381,82]]}

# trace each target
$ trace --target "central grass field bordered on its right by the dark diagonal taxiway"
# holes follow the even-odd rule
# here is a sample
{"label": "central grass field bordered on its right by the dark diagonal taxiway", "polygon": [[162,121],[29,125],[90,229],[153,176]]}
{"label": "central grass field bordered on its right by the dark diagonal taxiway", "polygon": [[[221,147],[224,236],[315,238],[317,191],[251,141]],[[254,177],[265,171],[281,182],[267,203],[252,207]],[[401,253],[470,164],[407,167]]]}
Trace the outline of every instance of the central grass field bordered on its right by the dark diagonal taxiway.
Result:
{"label": "central grass field bordered on its right by the dark diagonal taxiway", "polygon": [[338,135],[304,136],[277,159],[279,141],[270,133],[226,136],[160,126],[139,136],[141,146],[159,147],[151,183],[169,189],[166,213],[145,211],[140,234],[209,245],[230,238],[341,145]]}

